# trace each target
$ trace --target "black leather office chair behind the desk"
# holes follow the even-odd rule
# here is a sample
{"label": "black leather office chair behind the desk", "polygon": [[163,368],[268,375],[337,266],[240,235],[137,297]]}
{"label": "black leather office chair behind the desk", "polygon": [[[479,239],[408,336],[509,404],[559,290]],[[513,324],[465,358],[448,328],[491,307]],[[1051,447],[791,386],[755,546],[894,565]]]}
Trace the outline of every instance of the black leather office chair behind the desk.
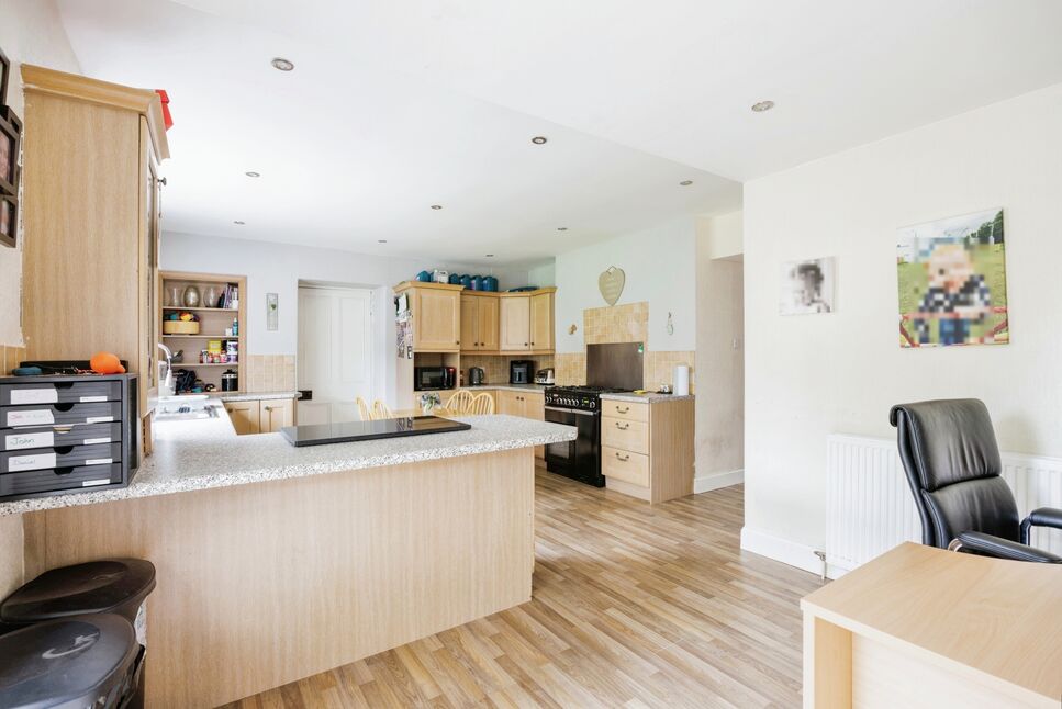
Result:
{"label": "black leather office chair behind the desk", "polygon": [[1041,507],[1018,521],[983,402],[955,398],[893,406],[899,458],[921,517],[921,542],[986,556],[1062,563],[1029,547],[1029,529],[1062,529],[1062,509]]}

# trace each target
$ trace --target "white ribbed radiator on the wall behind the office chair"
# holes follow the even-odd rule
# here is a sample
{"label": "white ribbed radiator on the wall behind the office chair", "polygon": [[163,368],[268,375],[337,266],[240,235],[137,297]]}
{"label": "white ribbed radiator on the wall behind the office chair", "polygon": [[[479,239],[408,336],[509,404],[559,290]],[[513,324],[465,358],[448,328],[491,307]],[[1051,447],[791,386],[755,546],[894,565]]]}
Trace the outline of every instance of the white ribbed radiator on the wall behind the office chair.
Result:
{"label": "white ribbed radiator on the wall behind the office chair", "polygon": [[[904,476],[896,441],[827,437],[826,562],[830,577],[856,569],[903,541],[921,541],[921,521]],[[1003,477],[1018,515],[1062,507],[1062,460],[1003,453]],[[1031,543],[1062,554],[1062,530],[1033,529]]]}

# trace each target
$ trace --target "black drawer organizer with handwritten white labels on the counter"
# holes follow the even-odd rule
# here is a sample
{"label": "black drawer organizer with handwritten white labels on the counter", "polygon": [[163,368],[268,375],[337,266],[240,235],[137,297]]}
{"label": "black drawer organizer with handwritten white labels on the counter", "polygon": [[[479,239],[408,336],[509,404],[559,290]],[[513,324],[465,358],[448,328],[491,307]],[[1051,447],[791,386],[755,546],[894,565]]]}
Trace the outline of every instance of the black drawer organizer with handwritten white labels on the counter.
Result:
{"label": "black drawer organizer with handwritten white labels on the counter", "polygon": [[0,378],[0,500],[125,487],[136,375]]}

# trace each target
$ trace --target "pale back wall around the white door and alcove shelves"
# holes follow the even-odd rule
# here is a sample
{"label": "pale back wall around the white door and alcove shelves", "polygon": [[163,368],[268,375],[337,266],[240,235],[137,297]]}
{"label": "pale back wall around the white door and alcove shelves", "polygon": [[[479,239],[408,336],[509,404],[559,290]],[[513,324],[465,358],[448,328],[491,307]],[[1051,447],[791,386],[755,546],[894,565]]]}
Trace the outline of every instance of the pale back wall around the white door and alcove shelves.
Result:
{"label": "pale back wall around the white door and alcove shelves", "polygon": [[[294,354],[298,351],[299,281],[317,281],[373,289],[373,358],[387,387],[375,393],[394,402],[394,318],[391,286],[413,279],[421,270],[445,268],[459,273],[489,269],[461,263],[367,256],[288,244],[226,239],[166,232],[160,263],[164,270],[232,273],[247,277],[248,323],[241,324],[250,354]],[[524,285],[527,271],[493,269],[501,288]],[[279,329],[266,330],[266,293],[280,301]],[[381,370],[381,364],[385,367]]]}

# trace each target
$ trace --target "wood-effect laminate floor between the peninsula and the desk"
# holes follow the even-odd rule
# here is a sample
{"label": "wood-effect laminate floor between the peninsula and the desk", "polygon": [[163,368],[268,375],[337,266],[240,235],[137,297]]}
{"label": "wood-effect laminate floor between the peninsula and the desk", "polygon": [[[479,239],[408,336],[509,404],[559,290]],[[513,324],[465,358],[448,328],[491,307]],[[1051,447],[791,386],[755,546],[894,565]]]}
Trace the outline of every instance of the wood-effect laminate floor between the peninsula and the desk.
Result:
{"label": "wood-effect laminate floor between the peninsula and the desk", "polygon": [[650,506],[536,482],[530,603],[227,706],[800,706],[818,578],[739,550],[740,486]]}

